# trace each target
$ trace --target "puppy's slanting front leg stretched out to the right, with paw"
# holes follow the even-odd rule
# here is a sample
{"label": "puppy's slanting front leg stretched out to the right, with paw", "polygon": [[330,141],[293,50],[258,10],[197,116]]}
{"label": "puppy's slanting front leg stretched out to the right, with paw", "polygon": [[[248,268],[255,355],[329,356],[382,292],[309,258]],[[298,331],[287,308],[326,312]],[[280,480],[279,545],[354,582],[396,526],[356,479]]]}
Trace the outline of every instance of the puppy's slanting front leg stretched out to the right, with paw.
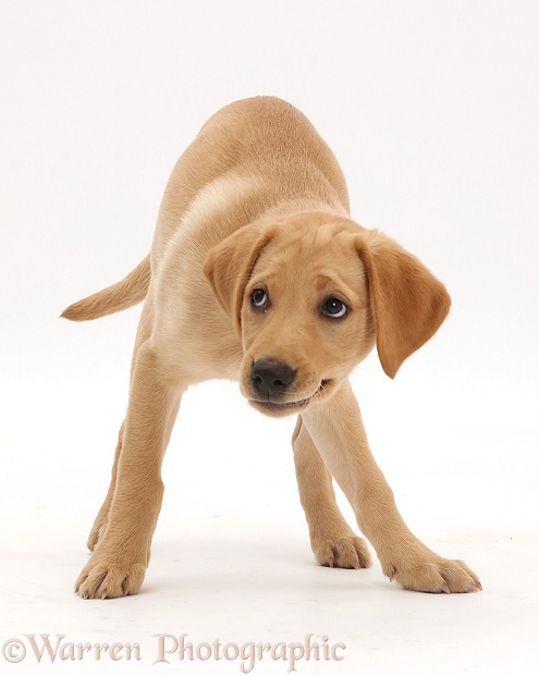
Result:
{"label": "puppy's slanting front leg stretched out to the right, with paw", "polygon": [[369,450],[348,382],[329,401],[304,411],[302,418],[390,579],[396,579],[405,589],[434,593],[481,588],[477,576],[462,561],[442,558],[407,528]]}

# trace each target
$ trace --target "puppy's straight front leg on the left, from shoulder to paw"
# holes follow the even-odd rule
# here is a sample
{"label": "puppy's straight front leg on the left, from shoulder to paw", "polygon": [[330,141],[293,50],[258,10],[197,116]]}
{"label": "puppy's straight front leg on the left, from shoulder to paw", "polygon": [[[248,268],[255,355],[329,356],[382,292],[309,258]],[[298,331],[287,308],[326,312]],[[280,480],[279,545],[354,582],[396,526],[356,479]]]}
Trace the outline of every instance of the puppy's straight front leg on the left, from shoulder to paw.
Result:
{"label": "puppy's straight front leg on the left, from shoulder to paw", "polygon": [[75,585],[84,599],[134,594],[143,585],[164,490],[161,464],[180,395],[160,374],[151,346],[142,345],[107,526]]}

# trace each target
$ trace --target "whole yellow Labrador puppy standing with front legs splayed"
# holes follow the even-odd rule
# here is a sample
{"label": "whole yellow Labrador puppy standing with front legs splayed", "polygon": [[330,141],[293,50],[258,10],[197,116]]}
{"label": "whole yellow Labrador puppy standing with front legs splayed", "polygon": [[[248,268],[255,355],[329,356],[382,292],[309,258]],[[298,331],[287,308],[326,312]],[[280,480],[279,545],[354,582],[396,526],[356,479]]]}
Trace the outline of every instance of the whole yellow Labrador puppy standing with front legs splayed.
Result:
{"label": "whole yellow Labrador puppy standing with front legs splayed", "polygon": [[320,564],[370,565],[335,504],[334,477],[390,579],[427,592],[481,588],[463,562],[408,530],[348,384],[375,344],[393,378],[437,331],[450,297],[417,258],[348,209],[341,169],[299,111],[271,97],[237,101],[177,161],[149,256],[63,312],[83,321],[144,300],[112,480],[76,581],[84,599],[139,591],[180,398],[212,378],[240,381],[264,414],[297,415],[297,483]]}

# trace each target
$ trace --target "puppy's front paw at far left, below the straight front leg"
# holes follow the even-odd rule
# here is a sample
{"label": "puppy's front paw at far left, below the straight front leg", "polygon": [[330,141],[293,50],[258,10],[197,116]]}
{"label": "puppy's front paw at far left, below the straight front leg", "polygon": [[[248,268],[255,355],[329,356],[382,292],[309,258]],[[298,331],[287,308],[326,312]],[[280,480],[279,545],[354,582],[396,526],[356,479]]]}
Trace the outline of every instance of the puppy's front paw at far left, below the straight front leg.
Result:
{"label": "puppy's front paw at far left, below the straight front leg", "polygon": [[83,599],[117,599],[140,591],[146,566],[119,563],[94,555],[83,568],[75,592]]}

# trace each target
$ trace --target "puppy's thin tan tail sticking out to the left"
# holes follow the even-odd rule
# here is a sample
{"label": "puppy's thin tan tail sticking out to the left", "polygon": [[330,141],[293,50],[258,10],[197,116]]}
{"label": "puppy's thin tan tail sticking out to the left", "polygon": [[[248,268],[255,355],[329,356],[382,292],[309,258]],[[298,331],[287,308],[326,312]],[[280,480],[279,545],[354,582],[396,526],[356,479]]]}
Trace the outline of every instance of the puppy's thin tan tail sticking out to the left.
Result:
{"label": "puppy's thin tan tail sticking out to the left", "polygon": [[77,300],[60,317],[72,321],[87,321],[106,317],[136,305],[145,299],[151,276],[149,254],[121,282],[107,286],[87,298]]}

